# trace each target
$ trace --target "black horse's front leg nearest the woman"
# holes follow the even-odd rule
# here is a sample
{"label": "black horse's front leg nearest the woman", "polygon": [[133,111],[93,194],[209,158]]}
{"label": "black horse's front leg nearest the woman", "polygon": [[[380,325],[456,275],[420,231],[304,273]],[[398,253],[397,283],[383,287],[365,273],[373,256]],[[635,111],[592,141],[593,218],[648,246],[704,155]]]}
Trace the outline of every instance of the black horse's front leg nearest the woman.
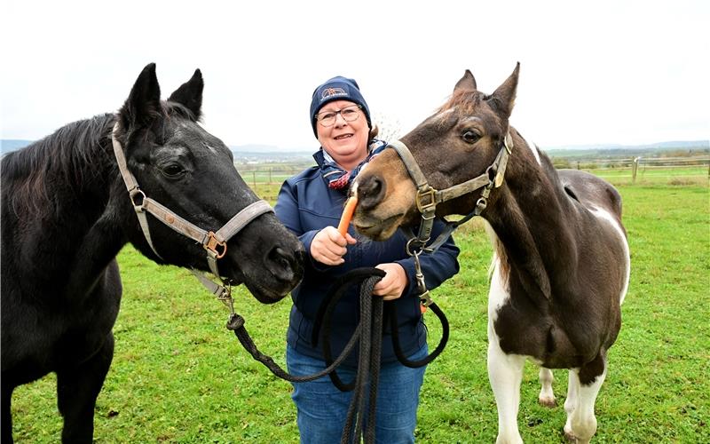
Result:
{"label": "black horse's front leg nearest the woman", "polygon": [[114,334],[109,332],[99,352],[78,367],[57,371],[59,413],[64,416],[62,442],[91,442],[94,408],[114,358]]}

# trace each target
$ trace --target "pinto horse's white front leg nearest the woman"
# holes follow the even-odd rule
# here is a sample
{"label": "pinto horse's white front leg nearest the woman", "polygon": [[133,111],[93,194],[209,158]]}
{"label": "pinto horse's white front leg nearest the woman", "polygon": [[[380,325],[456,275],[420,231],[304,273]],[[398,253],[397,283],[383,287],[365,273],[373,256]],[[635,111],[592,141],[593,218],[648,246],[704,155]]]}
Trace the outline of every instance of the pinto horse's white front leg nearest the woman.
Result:
{"label": "pinto horse's white front leg nearest the woman", "polygon": [[498,408],[497,443],[522,443],[517,430],[517,408],[520,405],[520,383],[523,380],[525,356],[506,354],[498,337],[488,328],[488,379]]}

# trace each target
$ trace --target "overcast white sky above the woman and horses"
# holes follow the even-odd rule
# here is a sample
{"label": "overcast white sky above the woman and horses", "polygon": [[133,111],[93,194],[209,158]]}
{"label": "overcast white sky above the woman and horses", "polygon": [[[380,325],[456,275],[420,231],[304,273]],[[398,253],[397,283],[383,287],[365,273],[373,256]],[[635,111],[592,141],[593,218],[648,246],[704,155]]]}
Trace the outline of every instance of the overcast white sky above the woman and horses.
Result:
{"label": "overcast white sky above the woman and horses", "polygon": [[157,64],[166,98],[201,68],[227,145],[318,148],[313,89],[355,78],[404,134],[469,68],[492,92],[521,63],[511,123],[540,147],[710,139],[710,2],[3,0],[2,139],[121,107]]}

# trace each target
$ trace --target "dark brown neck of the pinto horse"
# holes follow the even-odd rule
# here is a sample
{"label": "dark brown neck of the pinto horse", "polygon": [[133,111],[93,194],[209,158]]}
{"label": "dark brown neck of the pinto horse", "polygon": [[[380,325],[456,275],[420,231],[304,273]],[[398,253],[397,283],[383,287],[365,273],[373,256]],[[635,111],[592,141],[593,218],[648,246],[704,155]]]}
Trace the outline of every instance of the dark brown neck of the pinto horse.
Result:
{"label": "dark brown neck of the pinto horse", "polygon": [[576,242],[567,225],[569,203],[560,194],[554,168],[524,143],[516,142],[506,185],[493,191],[500,196],[485,218],[497,237],[493,247],[506,262],[503,266],[516,274],[525,293],[546,300],[576,262]]}

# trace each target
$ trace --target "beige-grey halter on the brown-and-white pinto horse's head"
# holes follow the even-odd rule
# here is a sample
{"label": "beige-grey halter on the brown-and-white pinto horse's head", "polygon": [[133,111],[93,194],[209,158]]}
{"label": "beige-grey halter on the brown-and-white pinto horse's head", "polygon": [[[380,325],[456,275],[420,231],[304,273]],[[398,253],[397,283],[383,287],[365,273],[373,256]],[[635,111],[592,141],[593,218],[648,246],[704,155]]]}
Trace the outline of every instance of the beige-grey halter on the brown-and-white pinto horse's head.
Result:
{"label": "beige-grey halter on the brown-and-white pinto horse's head", "polygon": [[[414,155],[409,151],[409,148],[400,141],[395,140],[388,144],[388,147],[394,148],[394,150],[399,155],[402,163],[405,164],[406,170],[409,172],[409,177],[412,178],[414,186],[416,186],[416,208],[422,214],[422,223],[419,226],[418,234],[414,235],[412,230],[408,227],[403,227],[403,231],[407,235],[411,236],[409,242],[407,242],[406,250],[410,256],[414,256],[414,249],[421,249],[427,252],[437,250],[441,244],[446,242],[446,239],[454,230],[467,222],[470,218],[474,216],[479,216],[488,203],[488,194],[491,193],[493,187],[498,188],[503,184],[503,178],[505,177],[505,170],[508,165],[509,155],[513,152],[513,138],[510,137],[510,132],[508,132],[503,139],[503,144],[498,155],[495,157],[493,163],[485,169],[485,172],[476,178],[471,178],[461,184],[450,186],[443,190],[437,190],[429,185],[427,178],[422,173],[419,168],[419,164],[414,160]],[[450,201],[457,197],[461,197],[464,194],[469,194],[478,189],[483,188],[481,196],[476,202],[476,208],[471,211],[468,215],[461,220],[450,222],[446,221],[446,229],[439,234],[435,242],[430,246],[426,246],[426,243],[430,241],[430,234],[432,226],[434,225],[434,218],[436,217],[437,205],[446,201]]]}

